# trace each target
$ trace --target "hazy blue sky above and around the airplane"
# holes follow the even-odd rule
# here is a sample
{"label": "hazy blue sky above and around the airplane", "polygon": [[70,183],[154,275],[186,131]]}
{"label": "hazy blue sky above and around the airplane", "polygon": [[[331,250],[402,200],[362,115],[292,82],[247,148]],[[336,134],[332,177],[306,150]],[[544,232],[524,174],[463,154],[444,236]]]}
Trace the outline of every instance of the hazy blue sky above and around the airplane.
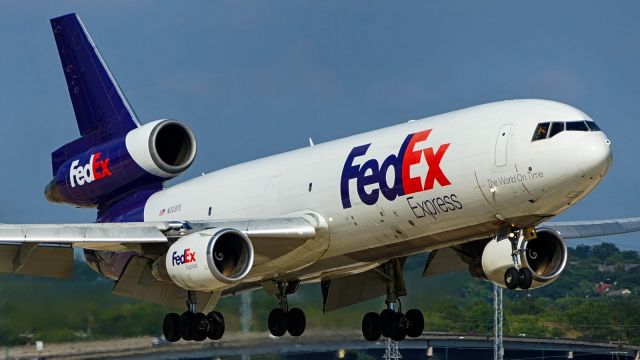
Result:
{"label": "hazy blue sky above and around the airplane", "polygon": [[[611,5],[613,4],[613,5]],[[78,135],[49,18],[78,12],[143,122],[198,139],[179,180],[485,102],[593,117],[614,165],[558,217],[640,215],[640,2],[1,1],[4,222],[85,222],[47,203],[50,152]],[[636,236],[623,243],[635,245]],[[638,243],[640,244],[640,242]]]}

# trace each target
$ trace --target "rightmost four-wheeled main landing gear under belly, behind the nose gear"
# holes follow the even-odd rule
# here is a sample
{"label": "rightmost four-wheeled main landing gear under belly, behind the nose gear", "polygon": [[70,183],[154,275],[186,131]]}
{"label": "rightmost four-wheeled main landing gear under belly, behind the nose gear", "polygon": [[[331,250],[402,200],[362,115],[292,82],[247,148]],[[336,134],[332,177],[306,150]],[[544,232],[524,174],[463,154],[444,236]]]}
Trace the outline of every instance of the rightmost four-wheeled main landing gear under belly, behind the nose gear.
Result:
{"label": "rightmost four-wheeled main landing gear under belly, behind the nose gear", "polygon": [[407,294],[400,259],[394,259],[383,265],[387,278],[387,308],[380,314],[367,313],[362,319],[362,335],[368,341],[377,341],[380,336],[401,341],[407,336],[418,337],[424,330],[424,317],[418,309],[402,313],[399,297]]}

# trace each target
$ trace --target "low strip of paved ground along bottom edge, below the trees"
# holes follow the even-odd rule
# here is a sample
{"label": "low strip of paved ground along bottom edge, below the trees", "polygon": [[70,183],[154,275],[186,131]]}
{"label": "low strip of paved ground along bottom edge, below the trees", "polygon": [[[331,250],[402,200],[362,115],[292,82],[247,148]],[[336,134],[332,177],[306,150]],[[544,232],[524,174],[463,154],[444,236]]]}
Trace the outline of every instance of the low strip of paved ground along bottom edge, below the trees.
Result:
{"label": "low strip of paved ground along bottom edge, below the trees", "polygon": [[[591,343],[565,339],[505,338],[505,359],[559,359],[573,352],[577,359],[635,359],[637,346]],[[425,333],[417,339],[399,343],[403,359],[490,359],[493,339],[462,334]],[[366,354],[382,357],[384,342],[367,342],[357,331],[310,331],[300,338],[271,338],[266,333],[235,333],[219,342],[159,342],[158,338],[141,337],[110,341],[45,344],[41,352],[27,345],[0,352],[0,359],[251,359],[273,354],[278,359],[346,359]],[[274,358],[272,357],[270,358]]]}

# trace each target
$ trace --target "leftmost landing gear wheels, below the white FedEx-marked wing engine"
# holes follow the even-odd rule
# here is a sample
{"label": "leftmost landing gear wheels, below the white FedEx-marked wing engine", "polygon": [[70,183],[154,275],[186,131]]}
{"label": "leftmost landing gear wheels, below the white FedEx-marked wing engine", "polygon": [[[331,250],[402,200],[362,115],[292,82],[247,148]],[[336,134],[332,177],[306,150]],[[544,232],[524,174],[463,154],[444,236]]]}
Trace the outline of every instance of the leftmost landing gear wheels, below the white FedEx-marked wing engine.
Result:
{"label": "leftmost landing gear wheels, below the white FedEx-marked wing engine", "polygon": [[167,314],[162,323],[164,338],[170,342],[180,339],[203,341],[219,340],[224,335],[224,317],[217,311],[205,315],[196,312],[196,292],[187,292],[187,311],[182,315]]}

